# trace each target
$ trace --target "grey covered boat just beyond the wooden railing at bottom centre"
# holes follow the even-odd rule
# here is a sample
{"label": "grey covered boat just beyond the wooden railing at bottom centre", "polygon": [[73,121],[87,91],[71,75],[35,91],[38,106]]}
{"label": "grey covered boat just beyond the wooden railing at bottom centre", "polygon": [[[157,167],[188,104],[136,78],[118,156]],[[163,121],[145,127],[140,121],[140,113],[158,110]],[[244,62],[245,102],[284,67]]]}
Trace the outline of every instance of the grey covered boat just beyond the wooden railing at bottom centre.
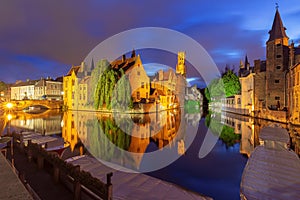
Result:
{"label": "grey covered boat just beyond the wooden railing at bottom centre", "polygon": [[90,172],[103,182],[106,182],[106,174],[113,172],[113,199],[115,200],[211,199],[145,174],[126,173],[111,169],[91,156],[74,157],[67,161],[74,165],[80,165],[82,170]]}

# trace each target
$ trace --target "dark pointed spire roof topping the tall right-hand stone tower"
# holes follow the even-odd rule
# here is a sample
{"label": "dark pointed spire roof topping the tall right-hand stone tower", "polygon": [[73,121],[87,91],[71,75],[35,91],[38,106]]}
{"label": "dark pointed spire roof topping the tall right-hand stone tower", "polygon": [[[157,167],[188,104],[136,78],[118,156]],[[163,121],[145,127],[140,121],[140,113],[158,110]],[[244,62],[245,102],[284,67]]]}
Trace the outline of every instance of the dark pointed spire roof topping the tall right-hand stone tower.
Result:
{"label": "dark pointed spire roof topping the tall right-hand stone tower", "polygon": [[280,38],[288,38],[285,33],[286,28],[283,26],[278,9],[276,9],[272,29],[269,31],[270,38],[268,41],[272,41]]}

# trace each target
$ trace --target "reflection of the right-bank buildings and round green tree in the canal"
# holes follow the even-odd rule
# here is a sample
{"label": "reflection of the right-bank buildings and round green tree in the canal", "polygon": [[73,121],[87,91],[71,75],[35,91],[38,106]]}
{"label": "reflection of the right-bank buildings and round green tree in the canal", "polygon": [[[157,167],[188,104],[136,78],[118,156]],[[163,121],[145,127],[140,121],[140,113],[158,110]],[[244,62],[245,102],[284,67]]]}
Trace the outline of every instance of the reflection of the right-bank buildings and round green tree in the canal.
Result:
{"label": "reflection of the right-bank buildings and round green tree in the canal", "polygon": [[[213,116],[213,118],[211,117]],[[274,122],[256,119],[233,113],[214,113],[206,117],[206,125],[214,123],[213,129],[218,130],[218,127],[225,125],[221,130],[220,139],[227,145],[232,146],[240,142],[240,153],[248,157],[254,148],[260,145],[259,133],[263,127],[274,124]],[[291,137],[291,147],[300,155],[300,128],[291,124],[279,123],[282,128],[289,131]],[[214,132],[214,131],[213,131]],[[226,133],[225,133],[226,132]]]}

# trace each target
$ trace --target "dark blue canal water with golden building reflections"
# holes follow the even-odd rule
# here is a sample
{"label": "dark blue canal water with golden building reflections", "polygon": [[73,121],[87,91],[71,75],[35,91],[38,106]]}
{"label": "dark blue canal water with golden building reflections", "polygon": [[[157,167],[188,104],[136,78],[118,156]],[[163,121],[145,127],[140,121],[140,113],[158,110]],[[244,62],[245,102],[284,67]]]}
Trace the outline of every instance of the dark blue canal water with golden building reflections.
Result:
{"label": "dark blue canal water with golden building reflections", "polygon": [[[30,130],[62,137],[72,151],[111,167],[147,173],[214,199],[240,199],[248,156],[269,122],[228,113],[10,113],[1,134]],[[83,150],[82,150],[83,149]]]}

